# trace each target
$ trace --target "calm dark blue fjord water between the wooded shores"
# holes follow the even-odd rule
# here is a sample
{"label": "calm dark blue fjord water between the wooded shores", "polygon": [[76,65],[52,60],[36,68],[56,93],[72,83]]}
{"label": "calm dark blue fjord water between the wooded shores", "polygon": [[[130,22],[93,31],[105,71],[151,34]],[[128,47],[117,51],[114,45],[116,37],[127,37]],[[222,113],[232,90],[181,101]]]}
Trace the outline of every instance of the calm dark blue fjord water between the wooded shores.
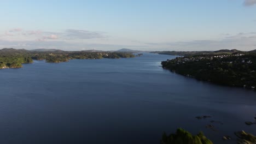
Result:
{"label": "calm dark blue fjord water between the wooded shores", "polygon": [[[163,131],[179,127],[202,130],[214,143],[235,143],[238,130],[256,134],[245,124],[254,121],[256,92],[160,67],[174,57],[144,53],[2,69],[0,143],[159,143]],[[195,118],[203,115],[212,118]]]}

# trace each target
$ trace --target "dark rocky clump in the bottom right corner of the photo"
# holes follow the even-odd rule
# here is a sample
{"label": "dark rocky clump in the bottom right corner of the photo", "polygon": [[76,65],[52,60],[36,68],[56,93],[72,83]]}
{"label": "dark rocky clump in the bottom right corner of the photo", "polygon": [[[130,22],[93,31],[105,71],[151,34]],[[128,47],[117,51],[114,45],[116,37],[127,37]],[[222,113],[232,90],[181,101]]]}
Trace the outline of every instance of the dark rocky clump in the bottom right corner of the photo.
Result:
{"label": "dark rocky clump in the bottom right corner of the photo", "polygon": [[246,133],[245,131],[237,131],[235,135],[238,137],[237,143],[238,144],[255,144],[256,143],[256,136]]}

